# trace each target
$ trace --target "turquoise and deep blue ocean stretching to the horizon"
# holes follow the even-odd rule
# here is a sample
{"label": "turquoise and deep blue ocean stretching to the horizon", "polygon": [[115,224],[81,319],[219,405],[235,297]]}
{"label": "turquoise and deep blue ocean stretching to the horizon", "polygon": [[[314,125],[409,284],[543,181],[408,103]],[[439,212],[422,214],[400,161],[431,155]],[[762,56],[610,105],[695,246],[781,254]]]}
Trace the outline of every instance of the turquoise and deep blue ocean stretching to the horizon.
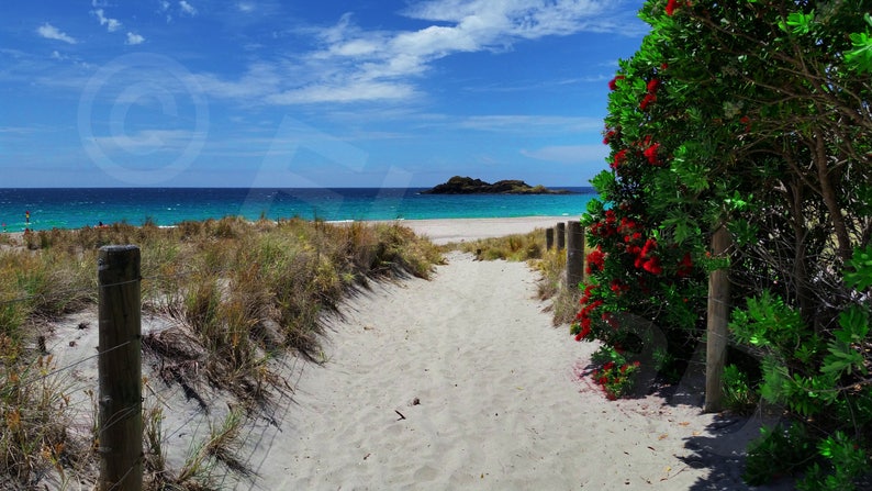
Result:
{"label": "turquoise and deep blue ocean stretching to the horizon", "polygon": [[47,188],[0,189],[3,232],[104,224],[174,225],[244,216],[270,220],[421,220],[578,216],[596,197],[572,194],[422,194],[425,188]]}

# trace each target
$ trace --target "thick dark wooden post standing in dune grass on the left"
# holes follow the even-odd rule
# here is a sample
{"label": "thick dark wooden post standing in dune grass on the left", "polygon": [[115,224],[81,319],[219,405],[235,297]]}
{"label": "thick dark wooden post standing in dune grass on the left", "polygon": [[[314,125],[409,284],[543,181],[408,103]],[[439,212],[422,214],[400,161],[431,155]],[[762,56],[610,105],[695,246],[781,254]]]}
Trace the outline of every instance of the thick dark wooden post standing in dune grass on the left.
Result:
{"label": "thick dark wooden post standing in dune grass on the left", "polygon": [[99,491],[143,486],[139,264],[136,246],[100,248]]}

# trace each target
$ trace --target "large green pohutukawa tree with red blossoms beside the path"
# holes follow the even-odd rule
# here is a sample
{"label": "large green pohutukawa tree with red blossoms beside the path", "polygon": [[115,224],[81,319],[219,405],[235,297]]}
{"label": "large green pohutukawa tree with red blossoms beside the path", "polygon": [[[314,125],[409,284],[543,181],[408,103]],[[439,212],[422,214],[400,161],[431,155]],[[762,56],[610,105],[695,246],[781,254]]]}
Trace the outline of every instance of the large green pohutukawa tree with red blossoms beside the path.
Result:
{"label": "large green pohutukawa tree with red blossoms beside the path", "polygon": [[[725,4],[729,3],[729,4]],[[872,1],[652,0],[610,86],[610,169],[582,219],[594,252],[573,324],[614,398],[680,376],[706,274],[728,268],[730,343],[791,423],[747,478],[851,489],[872,451]],[[726,257],[708,253],[730,232]],[[865,477],[864,477],[865,476]]]}

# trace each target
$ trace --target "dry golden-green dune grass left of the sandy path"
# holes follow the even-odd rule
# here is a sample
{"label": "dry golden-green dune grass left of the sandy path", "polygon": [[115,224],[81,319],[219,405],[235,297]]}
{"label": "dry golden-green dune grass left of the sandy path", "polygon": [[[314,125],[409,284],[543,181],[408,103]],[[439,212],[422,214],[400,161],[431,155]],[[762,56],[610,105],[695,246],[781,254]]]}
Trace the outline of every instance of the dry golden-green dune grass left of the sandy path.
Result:
{"label": "dry golden-green dune grass left of the sandy path", "polygon": [[70,436],[69,388],[48,368],[44,331],[48,321],[96,305],[97,254],[109,244],[139,246],[143,310],[175,321],[143,338],[146,356],[161,360],[161,378],[186,391],[205,381],[242,408],[178,473],[164,469],[161,414],[148,410],[150,489],[199,489],[205,460],[233,468],[227,449],[239,414],[257,412],[272,389],[287,387],[270,368],[273,356],[290,350],[314,358],[322,314],[349,290],[379,276],[427,278],[441,260],[436,246],[390,223],[225,217],[3,235],[0,484],[34,487],[53,470],[63,480],[76,462],[83,471],[96,459],[94,448]]}

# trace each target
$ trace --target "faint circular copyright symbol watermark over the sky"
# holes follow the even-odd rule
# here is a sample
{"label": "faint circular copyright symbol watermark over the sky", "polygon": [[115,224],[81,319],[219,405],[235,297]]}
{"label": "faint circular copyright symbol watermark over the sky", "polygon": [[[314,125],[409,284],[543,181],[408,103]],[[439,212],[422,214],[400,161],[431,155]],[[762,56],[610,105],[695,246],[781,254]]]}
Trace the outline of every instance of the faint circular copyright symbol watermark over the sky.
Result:
{"label": "faint circular copyright symbol watermark over the sky", "polygon": [[79,138],[91,160],[134,186],[166,182],[200,155],[209,104],[194,76],[164,55],[103,65],[79,98]]}

